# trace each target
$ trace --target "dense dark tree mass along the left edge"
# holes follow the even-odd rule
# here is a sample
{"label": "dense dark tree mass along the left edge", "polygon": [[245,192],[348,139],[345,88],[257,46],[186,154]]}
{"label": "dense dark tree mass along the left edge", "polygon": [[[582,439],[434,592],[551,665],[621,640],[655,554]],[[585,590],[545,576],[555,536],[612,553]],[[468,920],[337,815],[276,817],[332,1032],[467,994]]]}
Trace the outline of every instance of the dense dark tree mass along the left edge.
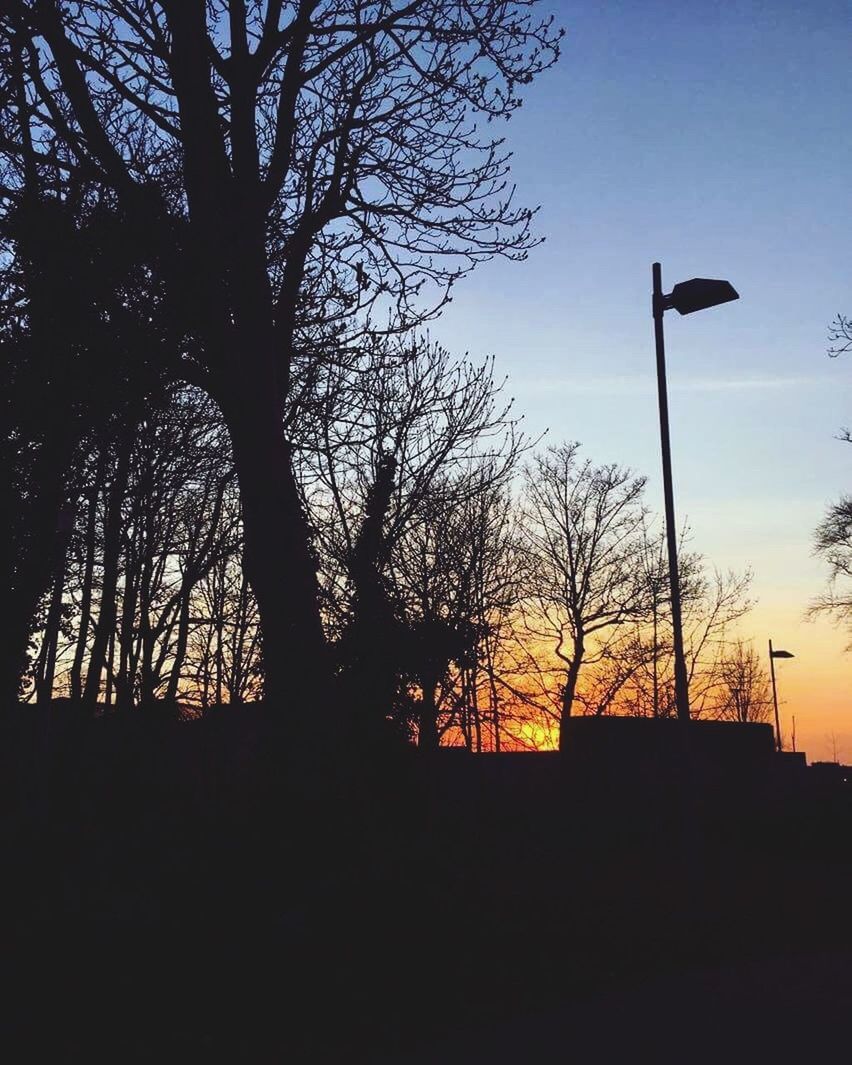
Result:
{"label": "dense dark tree mass along the left edge", "polygon": [[145,231],[72,162],[67,116],[39,110],[23,15],[20,4],[0,10],[4,695],[15,692],[35,604],[55,580],[81,448],[132,421],[129,408],[160,387],[168,346]]}

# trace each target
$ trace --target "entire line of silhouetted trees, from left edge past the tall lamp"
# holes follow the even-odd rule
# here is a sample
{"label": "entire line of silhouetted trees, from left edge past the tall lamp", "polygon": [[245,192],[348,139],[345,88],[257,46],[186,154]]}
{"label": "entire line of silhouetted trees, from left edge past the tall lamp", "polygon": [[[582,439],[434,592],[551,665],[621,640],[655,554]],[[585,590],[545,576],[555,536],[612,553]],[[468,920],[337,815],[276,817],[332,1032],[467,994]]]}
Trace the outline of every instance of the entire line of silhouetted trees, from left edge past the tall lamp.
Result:
{"label": "entire line of silhouetted trees, from left edge past the tall lamp", "polygon": [[[524,440],[425,333],[524,259],[493,130],[534,3],[0,10],[5,701],[261,694],[425,747],[668,715],[643,482]],[[765,712],[747,581],[685,559],[697,712]]]}

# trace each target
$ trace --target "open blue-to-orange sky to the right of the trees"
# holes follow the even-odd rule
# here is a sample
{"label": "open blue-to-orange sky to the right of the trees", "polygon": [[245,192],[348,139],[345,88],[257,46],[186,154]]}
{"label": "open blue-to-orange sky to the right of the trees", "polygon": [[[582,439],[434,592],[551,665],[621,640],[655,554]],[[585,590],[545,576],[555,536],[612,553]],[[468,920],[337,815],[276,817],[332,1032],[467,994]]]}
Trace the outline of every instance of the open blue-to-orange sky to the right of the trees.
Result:
{"label": "open blue-to-orange sky to the right of the trees", "polygon": [[852,490],[852,7],[848,0],[545,2],[559,64],[507,127],[519,199],[545,242],[459,285],[431,332],[494,355],[527,431],[646,474],[662,509],[651,264],[663,290],[740,294],[666,315],[678,524],[716,566],[751,568],[743,626],[772,639],[782,724],[809,760],[852,763],[850,634],[808,621],[826,504]]}

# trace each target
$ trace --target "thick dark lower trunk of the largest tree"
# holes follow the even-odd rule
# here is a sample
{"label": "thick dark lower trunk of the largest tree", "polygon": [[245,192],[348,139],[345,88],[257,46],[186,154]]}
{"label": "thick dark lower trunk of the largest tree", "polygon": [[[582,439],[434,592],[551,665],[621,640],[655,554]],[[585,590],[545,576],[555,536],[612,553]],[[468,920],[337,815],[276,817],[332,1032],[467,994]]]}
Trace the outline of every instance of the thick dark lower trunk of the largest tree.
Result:
{"label": "thick dark lower trunk of the largest tree", "polygon": [[[223,406],[243,507],[243,569],[263,634],[264,698],[291,721],[329,687],[316,562],[276,394],[253,379]],[[248,391],[250,389],[250,391]]]}

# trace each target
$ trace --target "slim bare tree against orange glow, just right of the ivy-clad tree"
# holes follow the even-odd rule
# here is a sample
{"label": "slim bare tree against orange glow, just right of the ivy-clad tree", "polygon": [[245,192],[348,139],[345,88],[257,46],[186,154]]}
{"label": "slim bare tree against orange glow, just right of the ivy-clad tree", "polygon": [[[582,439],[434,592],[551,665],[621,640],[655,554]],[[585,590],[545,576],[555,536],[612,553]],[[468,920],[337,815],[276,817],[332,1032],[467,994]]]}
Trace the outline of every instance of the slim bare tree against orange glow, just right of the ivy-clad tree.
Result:
{"label": "slim bare tree against orange glow, just right of the ivy-clad tree", "polygon": [[453,731],[482,750],[488,731],[499,749],[502,645],[523,580],[514,525],[505,472],[484,463],[437,484],[392,555],[404,678],[414,687],[402,706],[422,748]]}

